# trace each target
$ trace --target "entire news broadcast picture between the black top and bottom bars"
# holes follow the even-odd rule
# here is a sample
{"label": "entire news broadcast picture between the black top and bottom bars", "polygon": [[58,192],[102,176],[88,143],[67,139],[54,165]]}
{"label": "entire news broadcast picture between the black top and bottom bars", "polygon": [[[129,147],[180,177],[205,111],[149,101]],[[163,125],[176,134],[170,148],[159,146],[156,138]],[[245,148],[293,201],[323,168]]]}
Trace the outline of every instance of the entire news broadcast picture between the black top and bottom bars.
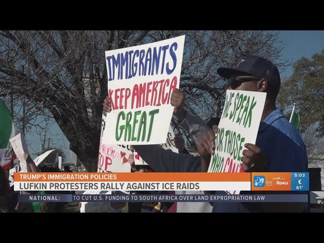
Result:
{"label": "entire news broadcast picture between the black top and bottom bars", "polygon": [[323,41],[0,30],[0,212],[323,213]]}

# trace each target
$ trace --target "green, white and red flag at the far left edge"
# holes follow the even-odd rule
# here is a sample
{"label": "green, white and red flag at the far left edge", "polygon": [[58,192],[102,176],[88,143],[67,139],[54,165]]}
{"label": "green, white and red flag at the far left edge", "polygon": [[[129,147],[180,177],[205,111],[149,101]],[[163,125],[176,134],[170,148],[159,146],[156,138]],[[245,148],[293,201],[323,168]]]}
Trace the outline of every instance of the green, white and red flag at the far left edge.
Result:
{"label": "green, white and red flag at the far left edge", "polygon": [[0,99],[0,165],[6,171],[12,159],[13,149],[9,139],[15,136],[15,127],[6,103]]}

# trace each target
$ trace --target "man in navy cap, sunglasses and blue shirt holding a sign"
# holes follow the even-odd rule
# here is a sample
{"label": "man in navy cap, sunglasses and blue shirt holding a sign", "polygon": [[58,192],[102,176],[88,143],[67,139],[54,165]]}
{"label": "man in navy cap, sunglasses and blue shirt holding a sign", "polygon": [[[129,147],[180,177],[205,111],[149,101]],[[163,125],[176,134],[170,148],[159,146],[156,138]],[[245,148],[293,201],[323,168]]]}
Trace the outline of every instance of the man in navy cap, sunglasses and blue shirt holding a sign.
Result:
{"label": "man in navy cap, sunglasses and blue shirt holding a sign", "polygon": [[[282,110],[275,106],[280,90],[277,67],[265,58],[246,56],[235,68],[221,67],[217,72],[228,79],[228,89],[267,93],[256,144],[245,145],[242,169],[245,172],[307,172],[308,159],[303,139]],[[213,129],[217,132],[216,127]],[[201,171],[207,172],[210,153],[215,151],[213,132],[200,138],[198,151]],[[217,191],[216,194],[225,192]],[[304,203],[214,203],[213,212],[304,212],[305,206]]]}

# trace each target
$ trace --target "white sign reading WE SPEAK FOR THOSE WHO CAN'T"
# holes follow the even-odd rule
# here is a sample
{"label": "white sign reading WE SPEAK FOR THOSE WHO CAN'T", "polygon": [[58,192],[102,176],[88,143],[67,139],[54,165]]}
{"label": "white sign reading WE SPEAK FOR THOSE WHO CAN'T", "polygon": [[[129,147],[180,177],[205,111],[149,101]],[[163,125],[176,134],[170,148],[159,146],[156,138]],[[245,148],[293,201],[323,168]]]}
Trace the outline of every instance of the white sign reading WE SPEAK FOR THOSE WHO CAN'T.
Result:
{"label": "white sign reading WE SPEAK FOR THOSE WHO CAN'T", "polygon": [[227,90],[208,172],[244,172],[240,158],[244,145],[256,142],[265,98],[263,92]]}

